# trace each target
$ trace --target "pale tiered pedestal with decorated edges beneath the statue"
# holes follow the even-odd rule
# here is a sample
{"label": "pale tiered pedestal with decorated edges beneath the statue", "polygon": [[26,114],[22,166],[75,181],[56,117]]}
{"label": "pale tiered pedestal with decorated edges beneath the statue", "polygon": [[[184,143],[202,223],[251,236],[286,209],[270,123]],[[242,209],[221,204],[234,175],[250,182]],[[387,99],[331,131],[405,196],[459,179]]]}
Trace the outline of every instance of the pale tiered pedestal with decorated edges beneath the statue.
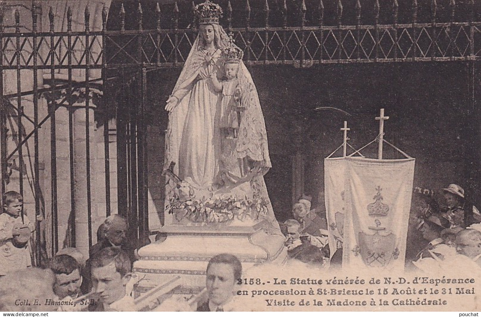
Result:
{"label": "pale tiered pedestal with decorated edges beneath the statue", "polygon": [[190,289],[205,287],[205,270],[209,259],[230,253],[242,262],[245,271],[264,263],[282,264],[287,258],[284,236],[264,220],[250,227],[165,226],[163,242],[144,246],[133,271],[145,278],[140,288],[151,288],[160,282],[180,276]]}

